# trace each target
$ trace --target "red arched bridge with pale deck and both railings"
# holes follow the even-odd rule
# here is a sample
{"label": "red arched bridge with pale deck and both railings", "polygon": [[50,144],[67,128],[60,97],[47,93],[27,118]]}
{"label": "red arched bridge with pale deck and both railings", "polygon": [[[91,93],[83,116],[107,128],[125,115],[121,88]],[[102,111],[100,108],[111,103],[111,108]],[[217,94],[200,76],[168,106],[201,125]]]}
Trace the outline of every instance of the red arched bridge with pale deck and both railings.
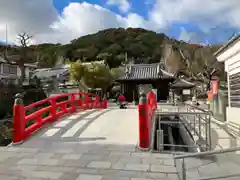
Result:
{"label": "red arched bridge with pale deck and both railings", "polygon": [[141,118],[138,118],[136,107],[125,110],[109,107],[106,99],[100,100],[95,94],[60,94],[28,106],[23,105],[18,94],[14,105],[13,144],[51,140],[136,145],[141,138],[140,148],[148,148],[150,123],[145,123],[145,116],[152,116],[156,100],[153,93],[147,98],[148,102],[139,105]]}

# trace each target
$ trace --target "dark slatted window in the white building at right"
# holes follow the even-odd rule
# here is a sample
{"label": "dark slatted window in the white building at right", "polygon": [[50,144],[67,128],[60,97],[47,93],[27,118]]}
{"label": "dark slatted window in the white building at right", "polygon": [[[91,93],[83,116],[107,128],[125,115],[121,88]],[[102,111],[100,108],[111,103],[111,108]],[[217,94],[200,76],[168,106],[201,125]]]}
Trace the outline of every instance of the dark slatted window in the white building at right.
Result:
{"label": "dark slatted window in the white building at right", "polygon": [[231,107],[240,107],[240,72],[229,76]]}

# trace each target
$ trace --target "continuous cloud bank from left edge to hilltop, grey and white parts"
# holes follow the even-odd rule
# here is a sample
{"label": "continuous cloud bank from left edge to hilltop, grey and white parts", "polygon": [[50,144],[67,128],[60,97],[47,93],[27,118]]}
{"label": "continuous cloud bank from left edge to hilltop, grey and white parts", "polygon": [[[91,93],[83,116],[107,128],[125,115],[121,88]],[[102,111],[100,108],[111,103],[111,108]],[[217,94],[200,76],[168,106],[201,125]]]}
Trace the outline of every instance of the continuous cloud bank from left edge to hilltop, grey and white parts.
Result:
{"label": "continuous cloud bank from left edge to hilltop, grey and white parts", "polygon": [[0,39],[5,39],[5,24],[8,24],[9,40],[27,32],[34,36],[34,43],[68,43],[79,36],[115,27],[146,27],[141,16],[129,14],[122,17],[98,5],[86,2],[70,3],[59,15],[52,0],[0,0]]}

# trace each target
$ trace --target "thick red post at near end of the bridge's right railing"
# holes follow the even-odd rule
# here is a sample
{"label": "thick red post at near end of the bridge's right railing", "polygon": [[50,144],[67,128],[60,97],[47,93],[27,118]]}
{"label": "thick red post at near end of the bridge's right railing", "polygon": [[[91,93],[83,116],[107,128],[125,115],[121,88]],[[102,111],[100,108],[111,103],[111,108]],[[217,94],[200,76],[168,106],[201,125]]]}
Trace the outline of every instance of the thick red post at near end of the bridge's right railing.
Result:
{"label": "thick red post at near end of the bridge's right railing", "polygon": [[150,145],[149,112],[146,94],[142,93],[138,104],[139,113],[139,148],[148,149]]}

